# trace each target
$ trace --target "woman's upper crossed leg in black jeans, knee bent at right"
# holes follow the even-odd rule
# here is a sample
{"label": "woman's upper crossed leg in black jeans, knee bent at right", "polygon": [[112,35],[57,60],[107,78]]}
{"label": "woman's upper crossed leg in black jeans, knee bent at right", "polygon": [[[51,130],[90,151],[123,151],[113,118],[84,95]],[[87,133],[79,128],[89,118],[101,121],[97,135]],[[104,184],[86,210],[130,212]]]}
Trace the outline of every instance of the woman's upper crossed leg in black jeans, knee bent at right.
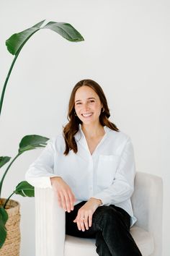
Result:
{"label": "woman's upper crossed leg in black jeans, knee bent at right", "polygon": [[[93,222],[99,224],[104,242],[114,256],[142,256],[130,234],[130,216],[115,205],[97,208]],[[96,239],[97,253],[104,256],[101,247],[101,234]]]}

